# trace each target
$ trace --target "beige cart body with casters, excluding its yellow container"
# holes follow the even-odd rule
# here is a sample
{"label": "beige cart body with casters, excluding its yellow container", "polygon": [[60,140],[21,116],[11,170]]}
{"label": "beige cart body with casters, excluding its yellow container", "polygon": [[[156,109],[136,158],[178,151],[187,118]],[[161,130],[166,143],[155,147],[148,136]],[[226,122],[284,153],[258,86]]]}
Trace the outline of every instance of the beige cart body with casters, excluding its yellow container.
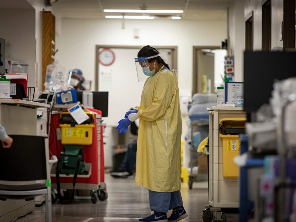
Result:
{"label": "beige cart body with casters, excluding its yellow container", "polygon": [[224,118],[245,118],[242,107],[211,107],[209,133],[209,205],[203,210],[205,222],[226,221],[223,208],[239,207],[239,178],[223,176],[223,143],[219,125]]}

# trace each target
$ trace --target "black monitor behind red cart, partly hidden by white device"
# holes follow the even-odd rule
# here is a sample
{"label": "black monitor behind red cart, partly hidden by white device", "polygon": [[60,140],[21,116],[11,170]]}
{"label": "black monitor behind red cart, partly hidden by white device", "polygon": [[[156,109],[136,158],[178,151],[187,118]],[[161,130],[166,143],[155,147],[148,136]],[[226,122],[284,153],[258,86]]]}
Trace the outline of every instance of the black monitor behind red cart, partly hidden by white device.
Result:
{"label": "black monitor behind red cart, partly hidden by white device", "polygon": [[[93,107],[102,111],[102,117],[108,116],[109,92],[93,91]],[[77,99],[82,103],[82,91],[77,91]]]}

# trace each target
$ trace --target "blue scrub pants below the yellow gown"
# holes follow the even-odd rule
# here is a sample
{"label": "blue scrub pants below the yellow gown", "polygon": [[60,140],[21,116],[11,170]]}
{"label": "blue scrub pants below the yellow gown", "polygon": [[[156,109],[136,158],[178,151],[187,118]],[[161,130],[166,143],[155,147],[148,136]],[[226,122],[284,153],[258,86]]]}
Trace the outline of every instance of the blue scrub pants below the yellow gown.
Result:
{"label": "blue scrub pants below the yellow gown", "polygon": [[151,211],[159,213],[167,213],[171,209],[183,206],[180,191],[163,193],[149,190],[149,202]]}

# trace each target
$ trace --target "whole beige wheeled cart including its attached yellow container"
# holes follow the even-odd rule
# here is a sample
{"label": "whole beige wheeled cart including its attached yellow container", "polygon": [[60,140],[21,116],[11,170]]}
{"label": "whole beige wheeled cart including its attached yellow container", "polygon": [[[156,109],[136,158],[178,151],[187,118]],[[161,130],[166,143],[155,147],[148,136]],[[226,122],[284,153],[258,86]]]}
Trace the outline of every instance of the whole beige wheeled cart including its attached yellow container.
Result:
{"label": "whole beige wheeled cart including its attached yellow container", "polygon": [[238,133],[244,131],[242,107],[210,107],[209,111],[209,205],[203,221],[226,221],[223,208],[239,207],[239,169],[233,156],[239,155]]}

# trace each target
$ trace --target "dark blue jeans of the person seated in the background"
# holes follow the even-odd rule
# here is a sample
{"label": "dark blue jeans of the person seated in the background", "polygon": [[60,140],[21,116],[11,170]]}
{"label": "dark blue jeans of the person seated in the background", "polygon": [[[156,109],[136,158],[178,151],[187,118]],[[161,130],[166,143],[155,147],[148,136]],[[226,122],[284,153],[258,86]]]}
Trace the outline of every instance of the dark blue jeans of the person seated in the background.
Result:
{"label": "dark blue jeans of the person seated in the background", "polygon": [[120,168],[123,170],[127,170],[130,175],[133,174],[133,169],[135,168],[137,156],[137,141],[133,141],[128,144],[128,151],[123,158]]}

